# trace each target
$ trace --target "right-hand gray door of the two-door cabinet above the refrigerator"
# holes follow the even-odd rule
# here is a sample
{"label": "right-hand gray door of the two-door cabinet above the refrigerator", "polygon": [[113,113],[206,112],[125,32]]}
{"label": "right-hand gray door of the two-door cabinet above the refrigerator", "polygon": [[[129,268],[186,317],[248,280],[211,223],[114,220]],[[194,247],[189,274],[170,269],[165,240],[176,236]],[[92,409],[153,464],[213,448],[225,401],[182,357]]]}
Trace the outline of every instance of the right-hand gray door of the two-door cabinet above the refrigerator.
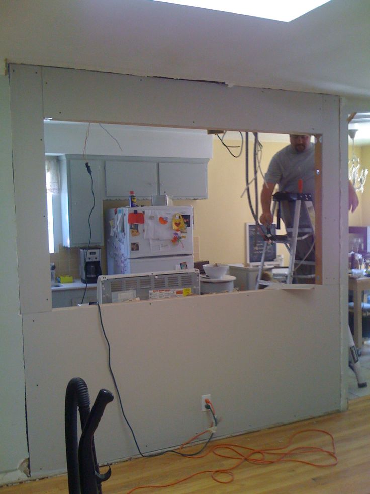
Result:
{"label": "right-hand gray door of the two-door cabinet above the refrigerator", "polygon": [[207,160],[159,163],[159,194],[175,199],[207,199]]}

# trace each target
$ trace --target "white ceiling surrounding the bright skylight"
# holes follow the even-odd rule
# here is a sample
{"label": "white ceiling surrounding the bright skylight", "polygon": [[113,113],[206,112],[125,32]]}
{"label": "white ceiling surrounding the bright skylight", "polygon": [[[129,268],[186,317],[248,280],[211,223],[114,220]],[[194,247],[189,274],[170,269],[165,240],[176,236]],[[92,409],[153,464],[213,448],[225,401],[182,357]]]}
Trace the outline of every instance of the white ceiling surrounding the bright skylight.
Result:
{"label": "white ceiling surrounding the bright skylight", "polygon": [[290,22],[152,0],[1,0],[8,62],[368,98],[370,1]]}

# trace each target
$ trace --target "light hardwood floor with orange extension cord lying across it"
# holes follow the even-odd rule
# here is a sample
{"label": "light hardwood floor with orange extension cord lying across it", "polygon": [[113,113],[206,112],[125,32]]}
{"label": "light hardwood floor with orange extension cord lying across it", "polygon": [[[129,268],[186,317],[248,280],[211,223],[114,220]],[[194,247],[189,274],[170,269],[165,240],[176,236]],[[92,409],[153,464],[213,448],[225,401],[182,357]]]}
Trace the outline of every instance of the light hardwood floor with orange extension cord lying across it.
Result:
{"label": "light hardwood floor with orange extension cord lying across it", "polygon": [[[282,448],[292,434],[299,432],[299,436],[293,440],[292,447],[304,445],[331,449],[329,436],[318,432],[303,433],[306,429],[325,430],[333,435],[338,458],[336,466],[318,467],[291,461],[253,464],[242,459],[239,466],[232,470],[234,480],[228,484],[215,482],[211,473],[202,473],[174,486],[161,489],[143,488],[135,492],[140,494],[150,492],[162,494],[370,493],[370,396],[351,400],[349,410],[343,413],[214,441],[210,443],[209,448],[226,443],[263,450]],[[188,448],[186,451],[198,449],[199,446]],[[227,452],[230,456],[234,454],[226,448],[216,451]],[[248,454],[248,450],[244,450],[243,454]],[[307,450],[303,455],[292,457],[321,465],[334,462],[333,457],[328,454],[307,452]],[[255,455],[252,458],[261,459],[262,455]],[[270,458],[268,456],[268,459]],[[112,465],[112,476],[103,484],[103,493],[128,494],[135,487],[169,484],[202,470],[230,469],[238,462],[238,459],[225,459],[213,453],[202,459],[182,458],[173,453],[157,458],[138,458]],[[219,478],[227,480],[231,477],[224,474]],[[0,488],[0,494],[16,493],[68,494],[67,477],[63,475]]]}

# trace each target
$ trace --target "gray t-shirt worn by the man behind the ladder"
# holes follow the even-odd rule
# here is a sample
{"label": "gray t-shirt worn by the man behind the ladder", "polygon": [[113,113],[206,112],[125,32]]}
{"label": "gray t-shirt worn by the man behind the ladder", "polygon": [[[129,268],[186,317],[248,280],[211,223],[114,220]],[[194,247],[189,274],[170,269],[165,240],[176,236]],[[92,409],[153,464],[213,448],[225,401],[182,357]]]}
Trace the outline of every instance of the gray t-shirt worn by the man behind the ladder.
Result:
{"label": "gray t-shirt worn by the man behind the ladder", "polygon": [[[315,145],[310,144],[309,148],[298,153],[291,145],[278,151],[271,159],[265,181],[277,183],[279,192],[298,192],[298,181],[302,179],[302,192],[312,195],[314,202],[315,193]],[[292,219],[289,219],[287,211],[284,211],[283,219],[287,227],[291,226]],[[292,214],[292,210],[291,210]],[[301,211],[301,226],[306,225],[306,215]]]}

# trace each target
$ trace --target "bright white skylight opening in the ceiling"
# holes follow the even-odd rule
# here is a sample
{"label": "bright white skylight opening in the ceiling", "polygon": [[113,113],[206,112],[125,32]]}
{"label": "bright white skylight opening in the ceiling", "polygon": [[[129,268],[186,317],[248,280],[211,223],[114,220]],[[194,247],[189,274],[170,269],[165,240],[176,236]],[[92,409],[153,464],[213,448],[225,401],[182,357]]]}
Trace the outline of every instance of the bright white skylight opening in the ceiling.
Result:
{"label": "bright white skylight opening in the ceiling", "polygon": [[263,17],[275,21],[289,22],[297,17],[303,16],[320,5],[326,4],[329,0],[156,0],[170,4],[189,5],[192,7],[202,7],[204,9],[220,10],[243,14],[245,16]]}

